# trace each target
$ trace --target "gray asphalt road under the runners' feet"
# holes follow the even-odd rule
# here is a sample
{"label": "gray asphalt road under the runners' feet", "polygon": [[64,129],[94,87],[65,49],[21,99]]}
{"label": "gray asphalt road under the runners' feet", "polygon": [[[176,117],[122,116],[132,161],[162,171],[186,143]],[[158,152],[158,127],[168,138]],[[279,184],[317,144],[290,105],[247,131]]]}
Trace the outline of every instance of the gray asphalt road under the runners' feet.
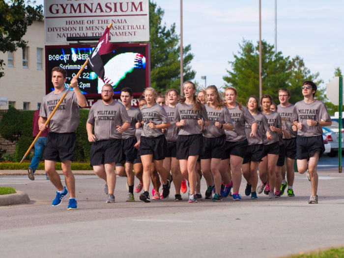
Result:
{"label": "gray asphalt road under the runners' feet", "polygon": [[[335,159],[333,159],[334,161]],[[333,163],[333,162],[332,162]],[[323,158],[319,165],[330,166]],[[321,166],[320,166],[321,167]],[[11,257],[281,257],[343,245],[344,176],[319,169],[319,204],[307,204],[311,186],[296,174],[296,197],[234,202],[202,200],[125,202],[125,178],[117,177],[116,203],[105,203],[104,182],[77,175],[77,210],[64,200],[51,206],[55,190],[44,175],[0,176],[1,186],[29,194],[31,202],[0,207],[1,258]],[[173,185],[172,185],[173,189]],[[202,194],[205,191],[202,180]],[[172,195],[174,190],[172,190]]]}

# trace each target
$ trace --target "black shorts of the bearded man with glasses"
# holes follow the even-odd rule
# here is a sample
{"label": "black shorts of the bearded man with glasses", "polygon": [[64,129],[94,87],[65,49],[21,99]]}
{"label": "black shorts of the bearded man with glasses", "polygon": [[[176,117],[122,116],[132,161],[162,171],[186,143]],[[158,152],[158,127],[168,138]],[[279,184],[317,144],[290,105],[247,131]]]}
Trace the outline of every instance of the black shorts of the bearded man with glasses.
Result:
{"label": "black shorts of the bearded man with glasses", "polygon": [[122,140],[111,139],[92,143],[91,166],[110,164],[123,160]]}

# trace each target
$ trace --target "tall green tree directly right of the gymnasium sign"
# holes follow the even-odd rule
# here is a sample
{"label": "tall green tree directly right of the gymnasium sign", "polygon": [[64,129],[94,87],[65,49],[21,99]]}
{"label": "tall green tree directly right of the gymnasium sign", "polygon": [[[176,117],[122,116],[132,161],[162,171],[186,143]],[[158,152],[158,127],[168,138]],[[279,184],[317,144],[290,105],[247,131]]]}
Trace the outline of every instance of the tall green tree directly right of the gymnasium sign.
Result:
{"label": "tall green tree directly right of the gymnasium sign", "polygon": [[[175,24],[168,29],[162,25],[164,10],[149,1],[149,34],[150,34],[150,69],[151,86],[165,91],[180,86],[180,45],[175,32]],[[183,81],[195,78],[196,72],[191,68],[194,55],[190,53],[191,45],[183,48]]]}

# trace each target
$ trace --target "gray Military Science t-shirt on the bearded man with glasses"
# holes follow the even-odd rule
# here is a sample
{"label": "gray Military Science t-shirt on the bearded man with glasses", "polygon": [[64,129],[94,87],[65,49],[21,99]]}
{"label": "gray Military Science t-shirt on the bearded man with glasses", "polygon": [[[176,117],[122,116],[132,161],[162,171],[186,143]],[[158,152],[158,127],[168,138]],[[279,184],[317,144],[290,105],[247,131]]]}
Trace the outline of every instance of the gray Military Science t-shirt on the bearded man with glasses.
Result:
{"label": "gray Military Science t-shirt on the bearded man with glasses", "polygon": [[116,126],[121,126],[125,122],[130,123],[130,119],[122,103],[114,100],[110,105],[105,105],[100,99],[89,110],[87,122],[94,124],[96,141],[104,141],[122,139],[122,134],[117,132]]}

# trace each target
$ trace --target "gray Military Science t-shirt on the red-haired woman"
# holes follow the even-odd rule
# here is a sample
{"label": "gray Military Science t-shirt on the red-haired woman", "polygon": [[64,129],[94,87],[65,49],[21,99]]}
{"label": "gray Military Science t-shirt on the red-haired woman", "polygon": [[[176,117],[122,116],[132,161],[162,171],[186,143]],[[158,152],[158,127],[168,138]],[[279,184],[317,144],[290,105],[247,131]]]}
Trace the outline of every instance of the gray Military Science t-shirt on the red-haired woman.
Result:
{"label": "gray Military Science t-shirt on the red-haired woman", "polygon": [[232,131],[226,130],[226,141],[227,142],[239,142],[246,139],[246,123],[251,125],[256,122],[255,118],[251,115],[249,110],[241,106],[239,109],[238,103],[235,103],[235,107],[229,110],[229,115],[233,120],[234,129]]}

